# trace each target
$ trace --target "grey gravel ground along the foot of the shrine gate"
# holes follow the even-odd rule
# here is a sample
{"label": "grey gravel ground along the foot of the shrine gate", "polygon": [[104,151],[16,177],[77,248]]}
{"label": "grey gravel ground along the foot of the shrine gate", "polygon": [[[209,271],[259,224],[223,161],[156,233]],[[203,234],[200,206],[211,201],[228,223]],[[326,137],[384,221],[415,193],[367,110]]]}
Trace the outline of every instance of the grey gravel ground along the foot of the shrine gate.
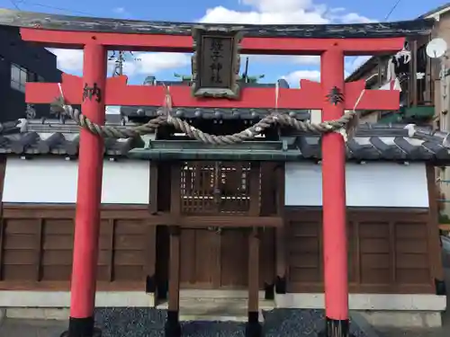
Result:
{"label": "grey gravel ground along the foot of the shrine gate", "polygon": [[[148,308],[98,309],[96,325],[103,337],[163,337],[166,312]],[[58,337],[65,323],[6,320],[0,328],[1,337]],[[279,309],[266,312],[266,337],[316,336],[323,327],[321,310]],[[223,322],[186,322],[184,337],[244,337],[245,324]],[[356,337],[368,337],[352,325]]]}

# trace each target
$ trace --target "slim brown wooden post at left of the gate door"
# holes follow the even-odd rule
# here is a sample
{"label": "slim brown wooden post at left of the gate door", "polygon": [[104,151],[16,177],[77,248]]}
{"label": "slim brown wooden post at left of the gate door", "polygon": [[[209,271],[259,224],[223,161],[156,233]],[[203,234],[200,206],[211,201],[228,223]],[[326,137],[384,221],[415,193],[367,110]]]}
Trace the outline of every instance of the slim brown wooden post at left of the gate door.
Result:
{"label": "slim brown wooden post at left of the gate door", "polygon": [[[181,166],[173,163],[170,182],[170,214],[174,219],[181,214]],[[169,226],[168,310],[165,326],[166,337],[180,337],[180,235],[179,226]]]}

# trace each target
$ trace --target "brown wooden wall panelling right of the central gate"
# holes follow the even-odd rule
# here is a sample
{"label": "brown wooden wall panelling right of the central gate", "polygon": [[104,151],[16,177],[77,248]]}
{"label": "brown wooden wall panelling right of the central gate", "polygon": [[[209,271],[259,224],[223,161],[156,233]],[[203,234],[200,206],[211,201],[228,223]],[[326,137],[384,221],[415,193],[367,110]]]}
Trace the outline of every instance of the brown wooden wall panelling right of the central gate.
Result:
{"label": "brown wooden wall panelling right of the central gate", "polygon": [[[288,288],[323,291],[319,208],[286,208]],[[351,292],[434,293],[426,209],[349,209],[348,279]],[[437,257],[436,257],[437,258]]]}

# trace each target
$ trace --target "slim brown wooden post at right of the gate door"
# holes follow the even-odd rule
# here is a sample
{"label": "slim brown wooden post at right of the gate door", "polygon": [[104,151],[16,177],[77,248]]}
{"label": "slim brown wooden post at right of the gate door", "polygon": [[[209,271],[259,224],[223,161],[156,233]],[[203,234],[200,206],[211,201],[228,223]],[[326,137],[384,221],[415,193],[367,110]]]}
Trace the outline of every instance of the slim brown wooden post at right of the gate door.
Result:
{"label": "slim brown wooden post at right of the gate door", "polygon": [[[260,215],[261,206],[261,165],[252,162],[250,166],[250,217]],[[253,227],[248,234],[248,321],[246,337],[259,337],[262,328],[259,324],[259,236],[258,228]]]}

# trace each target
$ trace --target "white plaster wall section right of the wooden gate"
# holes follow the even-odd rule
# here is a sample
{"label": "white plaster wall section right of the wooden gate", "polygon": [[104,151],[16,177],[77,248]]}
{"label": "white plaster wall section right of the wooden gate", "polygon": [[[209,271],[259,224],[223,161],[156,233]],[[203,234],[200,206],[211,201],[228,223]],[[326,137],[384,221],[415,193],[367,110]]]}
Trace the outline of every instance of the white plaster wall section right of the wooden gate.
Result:
{"label": "white plaster wall section right of the wooden gate", "polygon": [[[428,208],[425,164],[347,164],[347,206]],[[322,205],[320,164],[286,163],[286,206]]]}

